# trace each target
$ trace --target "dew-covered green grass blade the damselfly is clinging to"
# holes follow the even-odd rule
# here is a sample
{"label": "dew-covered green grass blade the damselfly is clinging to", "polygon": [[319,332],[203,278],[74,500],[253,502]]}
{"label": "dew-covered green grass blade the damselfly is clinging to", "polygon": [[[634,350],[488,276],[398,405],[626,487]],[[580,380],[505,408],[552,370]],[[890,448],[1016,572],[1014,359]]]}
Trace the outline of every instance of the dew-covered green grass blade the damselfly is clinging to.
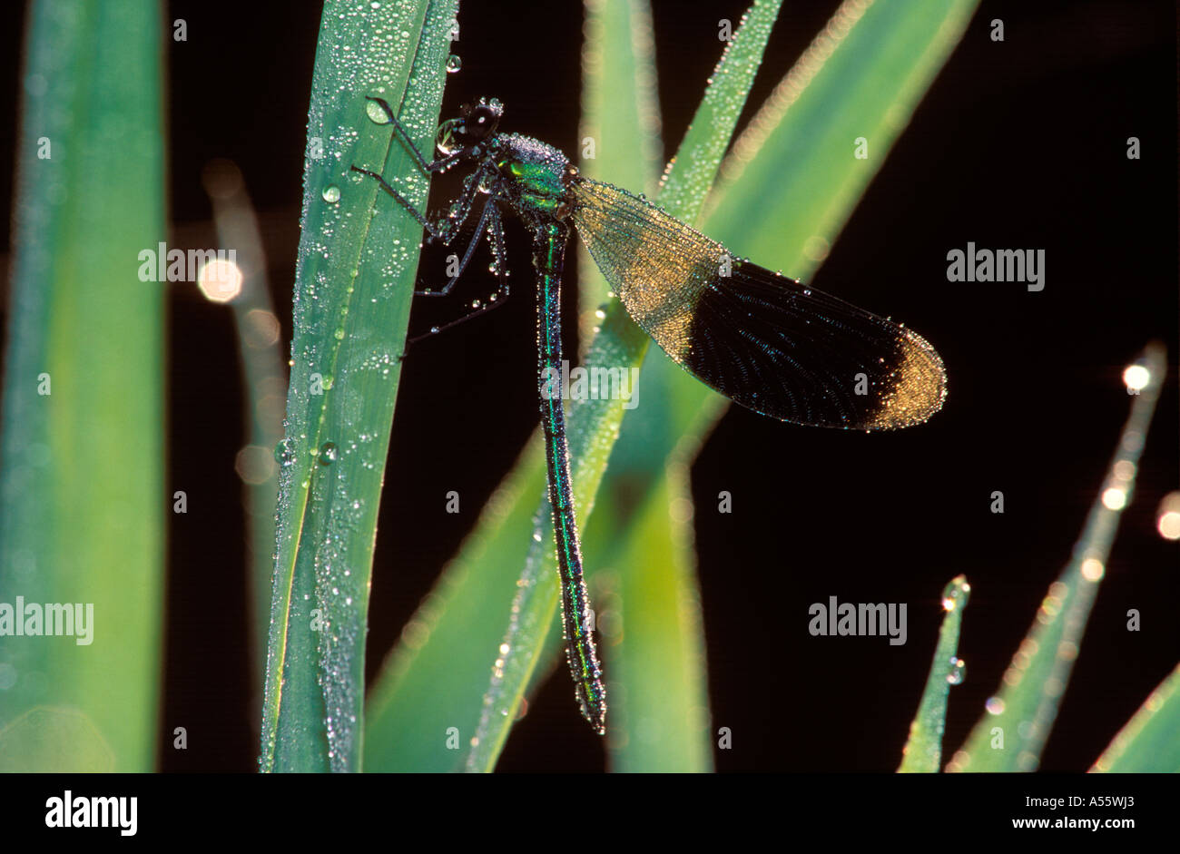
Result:
{"label": "dew-covered green grass blade the damselfly is clinging to", "polygon": [[455,0],[327,2],[304,166],[263,770],[359,770],[378,504],[428,179],[366,96],[433,152]]}

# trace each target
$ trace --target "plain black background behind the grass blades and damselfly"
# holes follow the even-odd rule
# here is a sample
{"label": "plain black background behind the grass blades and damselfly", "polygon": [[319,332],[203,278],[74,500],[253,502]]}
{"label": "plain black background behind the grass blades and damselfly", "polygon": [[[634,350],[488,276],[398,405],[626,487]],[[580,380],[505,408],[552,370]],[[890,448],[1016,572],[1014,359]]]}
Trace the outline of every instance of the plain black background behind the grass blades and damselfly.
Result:
{"label": "plain black background behind the grass blades and damselfly", "polygon": [[[743,4],[653,5],[670,155],[720,55],[717,20],[736,22]],[[788,6],[743,121],[835,4]],[[319,17],[310,2],[172,2],[168,20],[184,18],[189,40],[162,35],[169,243],[215,245],[201,169],[216,157],[236,162],[262,218],[284,342]],[[14,11],[4,35],[8,114],[19,18]],[[1004,42],[989,38],[995,18]],[[507,107],[503,129],[573,153],[581,4],[467,2],[459,20],[463,71],[448,80],[444,116],[496,96]],[[919,428],[864,436],[735,407],[695,466],[713,722],[734,733],[734,749],[716,751],[719,770],[894,769],[930,666],[939,593],[964,572],[974,585],[961,648],[968,678],[951,692],[945,747],[961,744],[1069,557],[1128,410],[1121,372],[1150,339],[1167,343],[1172,373],[1042,768],[1089,767],[1175,665],[1176,545],[1154,530],[1160,499],[1178,487],[1175,55],[1173,4],[982,5],[814,280],[927,337],[950,376],[945,409]],[[1130,136],[1142,159],[1126,157]],[[11,169],[0,180],[11,195]],[[509,239],[513,277],[530,281],[527,236],[512,224]],[[946,252],[968,241],[1044,249],[1044,291],[949,283]],[[376,543],[371,676],[536,426],[532,313],[529,289],[518,288],[500,311],[422,343],[405,363]],[[566,334],[572,352],[572,322]],[[173,751],[162,736],[162,762],[248,771],[258,717],[243,652],[245,530],[232,464],[244,428],[231,318],[173,285],[169,336],[165,492],[185,490],[189,512],[168,514],[160,729],[185,725],[190,749]],[[426,498],[441,494],[439,484],[464,495],[464,514]],[[734,495],[732,514],[713,512],[720,490]],[[1004,492],[1002,515],[989,512],[994,490]],[[807,606],[828,596],[907,603],[909,643],[812,638]],[[1129,609],[1142,612],[1142,631],[1126,630]],[[499,768],[603,767],[562,668]]]}

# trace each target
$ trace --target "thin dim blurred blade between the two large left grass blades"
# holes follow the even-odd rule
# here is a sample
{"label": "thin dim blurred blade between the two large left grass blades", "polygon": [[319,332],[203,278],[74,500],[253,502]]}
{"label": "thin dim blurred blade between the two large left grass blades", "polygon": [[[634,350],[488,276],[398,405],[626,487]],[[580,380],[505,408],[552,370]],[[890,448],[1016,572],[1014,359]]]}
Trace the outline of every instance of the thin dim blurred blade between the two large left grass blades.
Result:
{"label": "thin dim blurred blade between the two large left grass blades", "polygon": [[218,249],[236,252],[241,293],[230,303],[247,412],[247,445],[234,460],[244,485],[249,551],[250,626],[254,646],[251,695],[254,712],[262,698],[262,661],[270,625],[270,577],[275,569],[275,446],[283,438],[282,395],[287,368],[282,357],[278,317],[270,301],[262,235],[242,171],[229,160],[208,164],[202,183],[217,228]]}

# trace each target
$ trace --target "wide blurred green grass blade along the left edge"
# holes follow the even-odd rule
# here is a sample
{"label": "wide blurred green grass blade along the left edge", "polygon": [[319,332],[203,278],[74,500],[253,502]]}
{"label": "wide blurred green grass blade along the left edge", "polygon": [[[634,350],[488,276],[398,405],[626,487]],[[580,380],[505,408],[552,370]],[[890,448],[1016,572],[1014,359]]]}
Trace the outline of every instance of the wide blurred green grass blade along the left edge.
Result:
{"label": "wide blurred green grass blade along the left edge", "polygon": [[139,275],[139,254],[166,238],[159,7],[28,8],[0,624],[7,607],[22,619],[22,599],[80,603],[72,610],[86,629],[0,639],[0,770],[149,771],[163,513],[185,488],[163,484],[166,285]]}

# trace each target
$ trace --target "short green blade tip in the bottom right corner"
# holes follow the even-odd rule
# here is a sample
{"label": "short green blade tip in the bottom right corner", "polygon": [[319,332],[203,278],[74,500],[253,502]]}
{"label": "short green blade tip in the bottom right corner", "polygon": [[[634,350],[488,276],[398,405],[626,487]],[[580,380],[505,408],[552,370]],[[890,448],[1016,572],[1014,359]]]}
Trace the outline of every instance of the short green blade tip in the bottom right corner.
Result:
{"label": "short green blade tip in the bottom right corner", "polygon": [[1090,770],[1115,774],[1180,773],[1178,691],[1180,665],[1152,691]]}

